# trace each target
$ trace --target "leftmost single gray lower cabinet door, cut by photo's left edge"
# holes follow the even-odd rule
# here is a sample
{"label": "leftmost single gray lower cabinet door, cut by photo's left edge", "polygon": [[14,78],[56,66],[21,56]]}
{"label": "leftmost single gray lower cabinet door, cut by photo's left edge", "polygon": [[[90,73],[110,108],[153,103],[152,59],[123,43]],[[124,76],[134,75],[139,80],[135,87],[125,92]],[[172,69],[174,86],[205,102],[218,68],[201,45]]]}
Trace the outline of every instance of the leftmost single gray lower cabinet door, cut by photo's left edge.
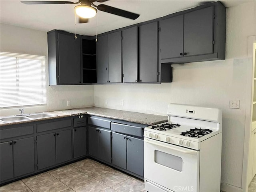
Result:
{"label": "leftmost single gray lower cabinet door, cut by photo's left edge", "polygon": [[12,141],[0,144],[0,179],[1,181],[14,177]]}

